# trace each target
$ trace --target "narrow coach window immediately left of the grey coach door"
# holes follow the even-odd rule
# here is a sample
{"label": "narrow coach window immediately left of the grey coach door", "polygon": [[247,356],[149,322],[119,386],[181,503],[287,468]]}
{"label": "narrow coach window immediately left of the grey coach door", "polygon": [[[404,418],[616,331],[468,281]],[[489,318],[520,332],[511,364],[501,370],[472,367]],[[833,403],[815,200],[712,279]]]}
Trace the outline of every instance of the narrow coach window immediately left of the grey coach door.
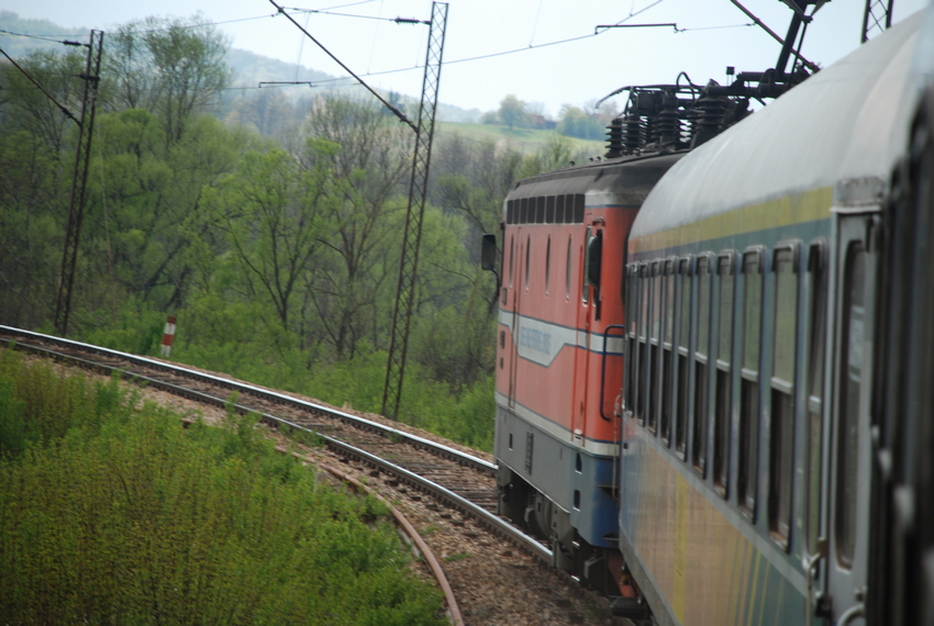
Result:
{"label": "narrow coach window immediately left of the grey coach door", "polygon": [[808,436],[804,476],[808,496],[804,502],[808,552],[818,552],[821,524],[821,441],[823,439],[824,342],[826,337],[827,290],[824,242],[811,245],[808,253]]}

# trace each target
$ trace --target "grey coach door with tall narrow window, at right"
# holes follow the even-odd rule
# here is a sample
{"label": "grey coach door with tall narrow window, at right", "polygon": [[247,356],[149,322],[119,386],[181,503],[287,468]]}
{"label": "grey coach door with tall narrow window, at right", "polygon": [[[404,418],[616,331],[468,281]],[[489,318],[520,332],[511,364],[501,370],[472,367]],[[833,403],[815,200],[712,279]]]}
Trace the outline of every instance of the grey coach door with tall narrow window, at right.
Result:
{"label": "grey coach door with tall narrow window, at right", "polygon": [[875,214],[844,215],[838,222],[825,569],[832,622],[838,626],[865,623],[871,328],[878,262],[875,223]]}

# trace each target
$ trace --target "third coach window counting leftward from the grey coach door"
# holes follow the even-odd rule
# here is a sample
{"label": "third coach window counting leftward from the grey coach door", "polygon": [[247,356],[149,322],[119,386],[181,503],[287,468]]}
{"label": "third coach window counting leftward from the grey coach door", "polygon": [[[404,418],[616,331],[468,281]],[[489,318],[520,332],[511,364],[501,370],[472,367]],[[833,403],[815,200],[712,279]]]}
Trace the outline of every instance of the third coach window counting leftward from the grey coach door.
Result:
{"label": "third coach window counting leftward from the grey coach door", "polygon": [[740,467],[736,489],[741,508],[755,519],[759,459],[759,339],[763,306],[763,253],[743,255],[743,368],[740,380]]}

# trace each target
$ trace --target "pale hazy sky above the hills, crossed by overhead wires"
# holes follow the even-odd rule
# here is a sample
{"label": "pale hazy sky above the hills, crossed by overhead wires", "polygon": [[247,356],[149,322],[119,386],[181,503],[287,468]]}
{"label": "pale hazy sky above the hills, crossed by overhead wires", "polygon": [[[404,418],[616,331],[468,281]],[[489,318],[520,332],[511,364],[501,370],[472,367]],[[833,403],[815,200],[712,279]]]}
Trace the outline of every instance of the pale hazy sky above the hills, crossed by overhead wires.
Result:
{"label": "pale hazy sky above the hills, crossed by overhead wires", "polygon": [[[430,20],[430,0],[276,1],[313,11],[293,16],[371,87],[421,93],[429,27],[389,20]],[[785,36],[792,14],[788,5],[740,1]],[[926,0],[896,0],[894,21],[925,5]],[[863,7],[863,0],[824,4],[808,27],[803,56],[826,67],[856,48]],[[4,0],[0,9],[103,31],[148,15],[198,12],[219,24],[232,47],[346,76],[288,19],[274,16],[277,9],[269,0]],[[597,29],[619,23],[675,23],[678,31]],[[779,44],[750,24],[731,0],[449,0],[438,98],[491,111],[513,94],[533,111],[556,116],[564,104],[593,103],[626,85],[675,82],[680,71],[696,83],[725,83],[727,66],[761,71],[778,59]]]}

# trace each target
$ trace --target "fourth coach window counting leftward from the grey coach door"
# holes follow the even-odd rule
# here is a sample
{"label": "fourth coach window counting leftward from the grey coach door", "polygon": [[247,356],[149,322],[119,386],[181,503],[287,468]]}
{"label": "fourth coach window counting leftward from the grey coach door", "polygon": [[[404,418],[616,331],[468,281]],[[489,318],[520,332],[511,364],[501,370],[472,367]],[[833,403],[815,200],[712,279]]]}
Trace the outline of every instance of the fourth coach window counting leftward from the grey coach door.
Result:
{"label": "fourth coach window counting leftward from the grey coach door", "polygon": [[713,410],[713,483],[726,498],[730,469],[730,415],[732,414],[731,378],[733,361],[733,253],[721,254],[716,259],[720,280],[720,310],[716,348],[716,380]]}

